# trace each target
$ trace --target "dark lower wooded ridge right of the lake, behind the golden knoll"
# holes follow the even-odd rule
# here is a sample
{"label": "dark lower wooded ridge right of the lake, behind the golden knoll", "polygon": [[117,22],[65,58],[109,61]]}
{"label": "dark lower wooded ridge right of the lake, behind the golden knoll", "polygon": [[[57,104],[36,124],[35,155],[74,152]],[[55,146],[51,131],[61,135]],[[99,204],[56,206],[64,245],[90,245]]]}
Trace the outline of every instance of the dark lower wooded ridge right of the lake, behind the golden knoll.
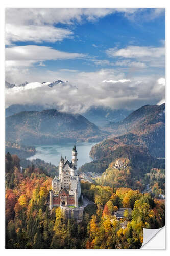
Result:
{"label": "dark lower wooded ridge right of the lake, behind the golden knoll", "polygon": [[[85,163],[79,168],[79,172],[96,172],[103,173],[108,168],[109,164],[119,158],[129,159],[131,167],[134,169],[136,179],[144,177],[144,174],[149,172],[151,168],[165,168],[163,159],[156,159],[151,156],[147,147],[137,145],[118,145],[112,147],[112,140],[104,140],[104,142],[96,144],[92,147],[98,147],[96,157],[90,163]],[[102,144],[102,147],[100,145]],[[105,144],[105,147],[103,145]],[[92,151],[92,150],[91,150]]]}

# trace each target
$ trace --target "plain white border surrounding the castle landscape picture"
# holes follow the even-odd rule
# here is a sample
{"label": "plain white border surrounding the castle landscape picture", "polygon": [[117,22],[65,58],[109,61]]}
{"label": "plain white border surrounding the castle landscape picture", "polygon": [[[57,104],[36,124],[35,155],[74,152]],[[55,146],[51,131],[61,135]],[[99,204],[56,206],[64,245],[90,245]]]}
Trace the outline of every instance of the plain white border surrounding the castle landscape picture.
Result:
{"label": "plain white border surrounding the castle landscape picture", "polygon": [[[1,8],[0,8],[0,26],[1,26],[1,40],[0,40],[0,44],[1,44],[1,52],[0,52],[0,63],[1,63],[1,76],[0,76],[0,79],[1,79],[1,94],[0,94],[0,104],[1,104],[1,160],[0,160],[0,166],[1,166],[1,169],[0,169],[0,174],[1,174],[1,253],[2,255],[8,255],[8,254],[41,254],[41,255],[46,255],[47,253],[51,253],[51,254],[65,254],[65,253],[69,253],[69,255],[71,254],[74,254],[74,255],[78,255],[78,254],[81,254],[81,255],[86,255],[87,253],[88,254],[94,254],[94,253],[98,253],[98,254],[103,254],[103,253],[107,253],[107,255],[109,254],[112,254],[112,253],[116,253],[116,254],[122,254],[122,253],[126,253],[126,255],[132,255],[132,254],[136,254],[136,253],[151,253],[150,251],[143,251],[143,250],[105,250],[105,252],[101,249],[99,250],[79,250],[79,249],[76,249],[76,250],[50,250],[49,252],[46,251],[46,249],[42,249],[42,250],[34,250],[34,249],[31,249],[30,250],[5,250],[5,221],[4,221],[4,206],[5,206],[5,200],[4,200],[4,197],[5,197],[5,175],[4,175],[4,169],[5,169],[5,161],[4,161],[4,154],[5,154],[5,148],[4,148],[4,145],[5,145],[5,97],[4,97],[4,84],[5,84],[5,68],[4,68],[4,60],[5,60],[5,51],[4,51],[4,26],[5,26],[5,8],[7,7],[13,7],[13,8],[17,8],[17,7],[24,7],[24,8],[68,8],[68,7],[71,7],[71,8],[166,8],[166,46],[168,46],[168,30],[169,28],[167,29],[168,27],[168,22],[169,22],[169,7],[168,7],[168,1],[166,0],[150,0],[150,1],[147,1],[147,0],[143,0],[143,1],[133,1],[133,0],[119,0],[119,1],[113,1],[113,0],[105,0],[105,1],[92,1],[92,0],[86,0],[84,2],[82,1],[78,1],[78,0],[62,0],[62,1],[56,1],[56,0],[48,0],[48,1],[42,1],[42,0],[37,0],[37,1],[33,1],[33,0],[29,0],[29,1],[21,1],[21,0],[15,0],[15,1],[12,1],[12,0],[6,0],[6,1],[1,1]],[[166,47],[166,71],[168,70],[169,68],[169,65],[168,65],[168,58],[169,55],[168,55],[168,48]],[[168,118],[168,115],[167,113],[169,113],[169,104],[168,104],[168,96],[169,96],[169,86],[170,84],[169,83],[169,79],[168,79],[169,75],[168,75],[168,72],[166,72],[166,127],[169,127],[169,118]],[[166,156],[168,155],[168,141],[169,141],[169,136],[168,136],[168,132],[167,132],[167,128],[166,128]],[[166,161],[166,170],[168,170],[168,159]],[[168,184],[168,178],[169,178],[169,175],[168,175],[168,171],[166,171],[166,184]],[[166,186],[166,198],[167,198],[167,194],[168,194],[168,187]],[[167,207],[167,204],[166,204],[166,207]],[[167,210],[166,210],[167,212]],[[166,226],[168,224],[168,215],[166,214]],[[166,230],[166,234],[168,234],[168,229]],[[169,240],[169,235],[166,236],[166,241]],[[168,244],[167,244],[167,247]],[[154,254],[155,255],[160,255],[160,253],[164,254],[164,253],[168,253],[168,250],[169,248],[167,248],[166,250],[154,250]]]}

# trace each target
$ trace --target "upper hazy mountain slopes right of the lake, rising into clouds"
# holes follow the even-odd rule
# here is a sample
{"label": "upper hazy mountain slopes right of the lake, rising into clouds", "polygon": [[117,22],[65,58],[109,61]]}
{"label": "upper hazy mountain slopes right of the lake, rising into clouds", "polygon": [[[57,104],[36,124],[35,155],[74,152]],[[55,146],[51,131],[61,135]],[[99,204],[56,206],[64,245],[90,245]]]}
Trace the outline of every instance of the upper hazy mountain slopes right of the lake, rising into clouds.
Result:
{"label": "upper hazy mountain slopes right of the lake, rising into clouds", "polygon": [[143,106],[111,126],[119,136],[94,145],[90,151],[93,159],[112,155],[112,151],[124,145],[145,146],[151,155],[165,156],[165,104]]}

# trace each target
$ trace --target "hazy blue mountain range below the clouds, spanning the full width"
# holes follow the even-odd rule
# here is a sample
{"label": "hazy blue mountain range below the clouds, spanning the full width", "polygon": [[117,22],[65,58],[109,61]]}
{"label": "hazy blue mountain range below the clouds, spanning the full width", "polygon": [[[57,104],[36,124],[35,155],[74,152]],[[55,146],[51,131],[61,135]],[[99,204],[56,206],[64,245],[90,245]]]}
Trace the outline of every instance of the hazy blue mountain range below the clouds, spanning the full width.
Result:
{"label": "hazy blue mountain range below the clouds, spanning the full width", "polygon": [[[7,108],[6,140],[38,145],[104,139],[91,148],[94,160],[110,162],[116,148],[131,145],[146,147],[154,157],[165,157],[165,104],[145,105],[128,116],[128,111],[101,107],[90,108],[83,113],[85,117],[43,108],[19,104]],[[123,120],[115,122],[123,115]],[[106,127],[99,129],[92,120],[95,124],[103,122]]]}

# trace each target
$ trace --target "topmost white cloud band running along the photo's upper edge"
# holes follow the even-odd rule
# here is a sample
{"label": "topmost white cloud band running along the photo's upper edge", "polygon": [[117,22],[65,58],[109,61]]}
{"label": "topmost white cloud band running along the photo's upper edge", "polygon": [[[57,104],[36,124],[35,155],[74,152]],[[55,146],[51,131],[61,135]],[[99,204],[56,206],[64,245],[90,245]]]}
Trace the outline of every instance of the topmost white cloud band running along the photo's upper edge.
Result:
{"label": "topmost white cloud band running along the photo's upper edge", "polygon": [[122,13],[125,17],[137,17],[139,14],[159,17],[165,9],[161,8],[7,8],[6,22],[11,24],[73,24],[82,20],[94,21],[113,13]]}

